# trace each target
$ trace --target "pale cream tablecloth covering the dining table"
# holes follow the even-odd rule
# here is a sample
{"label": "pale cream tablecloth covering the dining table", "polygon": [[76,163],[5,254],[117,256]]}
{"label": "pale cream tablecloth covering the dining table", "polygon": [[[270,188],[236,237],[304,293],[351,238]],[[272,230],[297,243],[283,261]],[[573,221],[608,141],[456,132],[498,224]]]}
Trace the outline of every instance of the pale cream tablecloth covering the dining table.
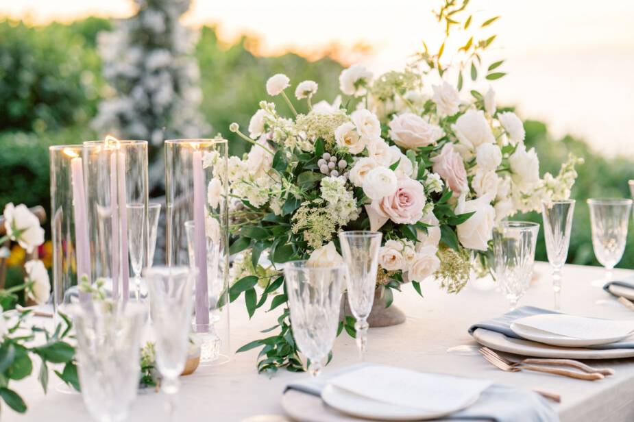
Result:
{"label": "pale cream tablecloth covering the dining table", "polygon": [[[533,283],[520,306],[552,306],[550,269],[548,264],[535,266],[539,280]],[[631,271],[615,271],[615,277]],[[589,266],[565,266],[563,271],[562,310],[585,316],[634,319],[634,312],[611,299],[590,281],[602,277],[603,270]],[[469,377],[483,377],[520,386],[540,388],[561,394],[557,406],[562,421],[634,421],[634,360],[597,362],[616,370],[616,375],[600,382],[572,380],[537,373],[506,373],[487,363],[480,356],[458,356],[447,353],[457,345],[473,345],[467,327],[507,311],[501,293],[482,291],[467,286],[459,295],[443,293],[434,281],[422,284],[424,299],[410,285],[395,294],[395,306],[407,315],[406,323],[395,327],[371,329],[367,360],[392,364],[419,371],[443,372]],[[598,299],[606,299],[597,304]],[[264,307],[266,308],[266,307]],[[258,310],[261,311],[262,309]],[[243,303],[232,304],[232,349],[270,334],[258,331],[273,325],[279,310],[257,312],[252,321]],[[182,377],[182,393],[177,421],[242,421],[247,417],[283,414],[280,405],[284,386],[292,380],[307,377],[306,373],[280,371],[269,379],[256,372],[258,349],[239,353],[228,364],[201,367],[196,373]],[[337,338],[334,358],[324,371],[332,371],[357,362],[354,339],[345,332]],[[36,371],[36,369],[35,369]],[[36,374],[36,372],[35,372]],[[24,397],[29,410],[18,415],[3,406],[3,421],[89,421],[80,395],[56,391],[56,376],[50,375],[49,393],[44,395],[36,376],[12,384]],[[167,421],[164,397],[160,393],[140,395],[132,408],[130,421]]]}

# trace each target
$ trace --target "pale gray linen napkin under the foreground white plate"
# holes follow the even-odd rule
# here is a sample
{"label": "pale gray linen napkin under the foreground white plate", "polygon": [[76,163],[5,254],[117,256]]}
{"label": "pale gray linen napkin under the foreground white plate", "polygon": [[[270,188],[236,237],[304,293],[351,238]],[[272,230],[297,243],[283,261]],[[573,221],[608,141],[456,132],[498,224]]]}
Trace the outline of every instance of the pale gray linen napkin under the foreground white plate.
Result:
{"label": "pale gray linen napkin under the foreground white plate", "polygon": [[[355,364],[340,371],[320,375],[314,379],[293,382],[286,390],[297,390],[310,395],[321,395],[331,377],[354,371],[367,364]],[[483,391],[476,403],[446,417],[446,419],[476,419],[494,422],[556,422],[559,416],[546,399],[532,391],[493,384]]]}

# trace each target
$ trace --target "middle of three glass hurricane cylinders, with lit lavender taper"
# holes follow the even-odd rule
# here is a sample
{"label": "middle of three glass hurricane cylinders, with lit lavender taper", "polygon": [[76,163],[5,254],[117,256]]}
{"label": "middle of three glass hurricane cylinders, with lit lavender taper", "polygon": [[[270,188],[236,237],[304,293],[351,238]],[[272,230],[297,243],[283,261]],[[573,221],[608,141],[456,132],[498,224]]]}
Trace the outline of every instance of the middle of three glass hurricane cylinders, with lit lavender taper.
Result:
{"label": "middle of three glass hurricane cylinders, with lit lavender taper", "polygon": [[143,244],[143,266],[147,263],[147,141],[106,140],[84,142],[86,192],[91,242],[92,280],[103,277],[108,295],[127,301],[134,297],[131,286],[128,208],[141,208],[135,219]]}

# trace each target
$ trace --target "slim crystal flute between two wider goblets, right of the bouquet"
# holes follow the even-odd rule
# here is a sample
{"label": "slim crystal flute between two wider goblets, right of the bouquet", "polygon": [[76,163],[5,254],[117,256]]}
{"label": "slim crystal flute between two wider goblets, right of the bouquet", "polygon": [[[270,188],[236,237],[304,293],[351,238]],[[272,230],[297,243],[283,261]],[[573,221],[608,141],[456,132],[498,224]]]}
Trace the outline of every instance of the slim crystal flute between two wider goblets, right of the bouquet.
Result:
{"label": "slim crystal flute between two wider goblets, right of the bouquet", "polygon": [[546,253],[552,266],[552,290],[554,290],[554,309],[559,310],[561,293],[561,269],[568,257],[574,199],[565,201],[544,201],[541,203],[541,217],[544,221]]}

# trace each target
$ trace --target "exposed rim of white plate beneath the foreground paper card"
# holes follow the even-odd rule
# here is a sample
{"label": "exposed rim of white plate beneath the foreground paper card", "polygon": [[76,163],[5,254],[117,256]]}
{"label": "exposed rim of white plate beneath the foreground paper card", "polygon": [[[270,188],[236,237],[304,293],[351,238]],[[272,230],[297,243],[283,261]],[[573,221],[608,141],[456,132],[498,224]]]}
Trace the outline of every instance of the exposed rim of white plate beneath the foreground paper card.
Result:
{"label": "exposed rim of white plate beneath the foreground paper card", "polygon": [[[421,397],[424,399],[424,395]],[[429,410],[406,408],[404,406],[382,403],[381,401],[368,399],[331,384],[328,384],[321,392],[321,399],[324,400],[328,406],[339,410],[339,412],[354,417],[373,419],[375,421],[426,421],[428,419],[437,419],[471,406],[478,400],[478,397],[479,396],[474,397],[472,402],[461,408],[445,412],[432,412]]]}

